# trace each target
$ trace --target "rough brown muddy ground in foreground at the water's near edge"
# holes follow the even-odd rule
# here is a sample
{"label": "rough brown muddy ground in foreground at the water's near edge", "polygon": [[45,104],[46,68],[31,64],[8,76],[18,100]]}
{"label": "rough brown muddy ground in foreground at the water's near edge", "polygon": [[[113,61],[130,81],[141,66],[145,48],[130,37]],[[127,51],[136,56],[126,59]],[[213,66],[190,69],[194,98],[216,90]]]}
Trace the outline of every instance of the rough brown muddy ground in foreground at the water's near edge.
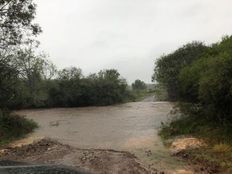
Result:
{"label": "rough brown muddy ground in foreground at the water's near edge", "polygon": [[42,139],[21,147],[2,150],[0,160],[13,160],[32,164],[67,165],[97,174],[156,174],[155,169],[143,166],[129,152],[78,149],[51,139]]}

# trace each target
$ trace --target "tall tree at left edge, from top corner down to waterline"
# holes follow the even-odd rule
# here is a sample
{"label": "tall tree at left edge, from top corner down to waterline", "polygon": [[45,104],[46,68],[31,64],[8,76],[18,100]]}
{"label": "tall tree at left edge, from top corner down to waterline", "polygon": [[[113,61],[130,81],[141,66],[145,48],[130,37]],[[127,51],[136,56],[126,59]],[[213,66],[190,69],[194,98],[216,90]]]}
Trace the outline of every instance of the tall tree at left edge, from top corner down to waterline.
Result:
{"label": "tall tree at left edge, from top corner down to waterline", "polygon": [[[18,70],[12,62],[16,50],[41,32],[37,24],[32,24],[36,5],[32,0],[0,1],[0,98],[2,106],[8,106],[15,99]],[[17,83],[18,84],[18,83]]]}

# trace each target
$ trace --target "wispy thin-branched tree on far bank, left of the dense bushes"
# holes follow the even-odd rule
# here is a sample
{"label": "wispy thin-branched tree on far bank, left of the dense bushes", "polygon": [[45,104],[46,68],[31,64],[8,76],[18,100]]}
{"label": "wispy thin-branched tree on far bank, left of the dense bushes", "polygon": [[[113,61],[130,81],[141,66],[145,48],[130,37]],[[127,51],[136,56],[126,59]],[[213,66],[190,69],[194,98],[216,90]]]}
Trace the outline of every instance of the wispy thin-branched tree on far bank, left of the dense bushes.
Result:
{"label": "wispy thin-branched tree on far bank, left of the dense bushes", "polygon": [[[12,63],[19,72],[21,92],[25,100],[33,106],[43,105],[46,100],[46,81],[56,74],[55,66],[49,62],[45,55],[37,55],[34,47],[20,49],[13,57]],[[21,99],[22,100],[22,99]]]}

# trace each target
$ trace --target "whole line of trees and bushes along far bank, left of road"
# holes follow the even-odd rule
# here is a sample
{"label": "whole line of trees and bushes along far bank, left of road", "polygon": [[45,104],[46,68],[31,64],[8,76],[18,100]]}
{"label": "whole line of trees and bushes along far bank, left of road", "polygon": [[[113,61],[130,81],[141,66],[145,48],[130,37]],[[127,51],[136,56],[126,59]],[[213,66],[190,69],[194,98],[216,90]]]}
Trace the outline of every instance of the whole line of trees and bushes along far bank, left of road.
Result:
{"label": "whole line of trees and bushes along far bank, left of road", "polygon": [[117,70],[89,76],[75,67],[58,71],[31,49],[0,61],[0,78],[0,105],[7,108],[110,105],[132,97]]}

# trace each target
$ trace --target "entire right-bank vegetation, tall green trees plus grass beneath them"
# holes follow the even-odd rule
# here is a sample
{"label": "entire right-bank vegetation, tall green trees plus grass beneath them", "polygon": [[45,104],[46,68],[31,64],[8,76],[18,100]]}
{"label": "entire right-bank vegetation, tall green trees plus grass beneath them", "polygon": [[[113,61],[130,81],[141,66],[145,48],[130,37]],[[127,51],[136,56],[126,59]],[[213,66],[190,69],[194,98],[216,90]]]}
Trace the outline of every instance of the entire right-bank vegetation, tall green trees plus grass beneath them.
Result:
{"label": "entire right-bank vegetation, tall green trees plus grass beneath them", "polygon": [[232,169],[225,162],[232,154],[232,36],[210,46],[193,42],[162,56],[153,80],[167,89],[181,111],[163,125],[161,136],[203,138],[210,146],[190,154]]}

